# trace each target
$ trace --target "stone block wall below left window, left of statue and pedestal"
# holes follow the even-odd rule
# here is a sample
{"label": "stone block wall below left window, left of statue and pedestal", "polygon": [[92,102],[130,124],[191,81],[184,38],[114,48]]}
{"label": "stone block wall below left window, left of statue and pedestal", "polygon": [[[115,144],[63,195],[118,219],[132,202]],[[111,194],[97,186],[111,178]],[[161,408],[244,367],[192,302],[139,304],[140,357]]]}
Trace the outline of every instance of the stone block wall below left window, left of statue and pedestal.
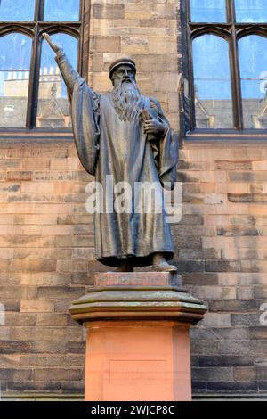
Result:
{"label": "stone block wall below left window, left of statue and pedestal", "polygon": [[68,308],[93,282],[93,220],[72,142],[0,144],[2,390],[82,392],[83,329]]}

